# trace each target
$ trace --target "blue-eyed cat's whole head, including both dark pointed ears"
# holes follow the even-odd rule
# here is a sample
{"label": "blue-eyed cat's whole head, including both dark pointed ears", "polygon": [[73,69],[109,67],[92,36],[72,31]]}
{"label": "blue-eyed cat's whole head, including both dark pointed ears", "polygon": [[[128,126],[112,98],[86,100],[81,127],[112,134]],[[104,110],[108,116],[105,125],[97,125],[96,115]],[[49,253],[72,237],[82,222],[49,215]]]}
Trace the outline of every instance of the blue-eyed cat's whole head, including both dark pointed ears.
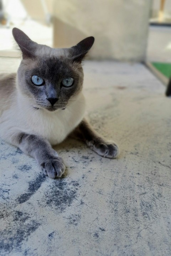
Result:
{"label": "blue-eyed cat's whole head, including both dark pointed ears", "polygon": [[81,62],[92,47],[90,36],[71,48],[51,48],[33,42],[24,32],[12,30],[22,51],[17,86],[35,108],[64,109],[82,90]]}

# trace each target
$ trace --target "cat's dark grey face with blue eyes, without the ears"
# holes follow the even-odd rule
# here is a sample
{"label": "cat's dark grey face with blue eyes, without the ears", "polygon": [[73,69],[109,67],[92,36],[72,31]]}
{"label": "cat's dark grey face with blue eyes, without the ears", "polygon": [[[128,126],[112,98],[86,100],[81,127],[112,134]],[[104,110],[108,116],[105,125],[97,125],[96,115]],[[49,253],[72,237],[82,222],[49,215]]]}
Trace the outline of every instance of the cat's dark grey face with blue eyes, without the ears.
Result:
{"label": "cat's dark grey face with blue eyes, without the ears", "polygon": [[22,60],[18,70],[18,86],[34,108],[48,111],[66,108],[83,85],[80,63],[65,58],[37,57]]}

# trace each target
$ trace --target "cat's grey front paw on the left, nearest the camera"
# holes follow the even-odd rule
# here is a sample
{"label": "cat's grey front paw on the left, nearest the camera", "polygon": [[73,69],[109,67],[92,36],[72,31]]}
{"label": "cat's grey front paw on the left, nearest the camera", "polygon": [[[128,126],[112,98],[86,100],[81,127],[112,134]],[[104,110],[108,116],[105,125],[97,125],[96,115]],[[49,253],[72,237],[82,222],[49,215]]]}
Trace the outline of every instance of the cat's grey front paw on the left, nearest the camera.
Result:
{"label": "cat's grey front paw on the left, nearest the camera", "polygon": [[66,169],[61,157],[52,157],[52,159],[48,159],[42,163],[40,167],[41,172],[52,179],[61,177]]}

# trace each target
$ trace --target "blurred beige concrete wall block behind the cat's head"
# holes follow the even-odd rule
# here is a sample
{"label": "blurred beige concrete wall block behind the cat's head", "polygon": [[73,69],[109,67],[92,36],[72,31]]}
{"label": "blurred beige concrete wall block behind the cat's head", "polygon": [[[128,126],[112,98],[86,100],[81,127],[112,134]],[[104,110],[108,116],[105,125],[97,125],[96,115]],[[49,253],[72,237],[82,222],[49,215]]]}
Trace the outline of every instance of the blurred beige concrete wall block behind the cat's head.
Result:
{"label": "blurred beige concrete wall block behind the cat's head", "polygon": [[54,47],[93,35],[90,57],[144,61],[151,0],[54,1]]}

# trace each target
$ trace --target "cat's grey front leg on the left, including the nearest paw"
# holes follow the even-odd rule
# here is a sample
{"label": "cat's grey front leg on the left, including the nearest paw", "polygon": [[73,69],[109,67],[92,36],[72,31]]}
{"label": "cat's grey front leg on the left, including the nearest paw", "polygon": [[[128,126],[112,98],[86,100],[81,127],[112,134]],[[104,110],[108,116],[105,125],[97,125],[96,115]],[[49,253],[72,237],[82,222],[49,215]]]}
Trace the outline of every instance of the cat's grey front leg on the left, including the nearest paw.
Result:
{"label": "cat's grey front leg on the left, including the nearest paw", "polygon": [[55,179],[64,173],[65,166],[62,158],[58,156],[47,140],[37,135],[17,132],[11,136],[11,144],[35,158],[42,173],[46,176]]}

